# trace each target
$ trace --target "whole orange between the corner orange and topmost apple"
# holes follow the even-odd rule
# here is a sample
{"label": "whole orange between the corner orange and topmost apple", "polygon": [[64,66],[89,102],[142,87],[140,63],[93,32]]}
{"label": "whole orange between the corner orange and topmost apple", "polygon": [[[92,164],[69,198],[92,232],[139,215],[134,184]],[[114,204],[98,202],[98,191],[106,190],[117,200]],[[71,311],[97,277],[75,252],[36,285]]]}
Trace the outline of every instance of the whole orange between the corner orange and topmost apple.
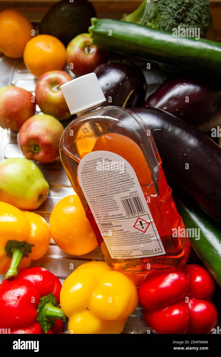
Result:
{"label": "whole orange between the corner orange and topmost apple", "polygon": [[48,71],[66,67],[66,49],[62,42],[51,35],[33,37],[25,46],[24,62],[36,77]]}

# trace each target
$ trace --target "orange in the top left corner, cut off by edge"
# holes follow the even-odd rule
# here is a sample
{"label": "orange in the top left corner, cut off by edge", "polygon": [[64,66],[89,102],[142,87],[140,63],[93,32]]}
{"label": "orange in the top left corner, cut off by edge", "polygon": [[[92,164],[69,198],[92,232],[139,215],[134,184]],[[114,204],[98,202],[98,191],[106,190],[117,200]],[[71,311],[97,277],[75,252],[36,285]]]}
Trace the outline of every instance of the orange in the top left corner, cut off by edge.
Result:
{"label": "orange in the top left corner, cut off by edge", "polygon": [[4,10],[0,12],[0,50],[11,58],[23,55],[26,43],[31,39],[33,26],[20,12]]}

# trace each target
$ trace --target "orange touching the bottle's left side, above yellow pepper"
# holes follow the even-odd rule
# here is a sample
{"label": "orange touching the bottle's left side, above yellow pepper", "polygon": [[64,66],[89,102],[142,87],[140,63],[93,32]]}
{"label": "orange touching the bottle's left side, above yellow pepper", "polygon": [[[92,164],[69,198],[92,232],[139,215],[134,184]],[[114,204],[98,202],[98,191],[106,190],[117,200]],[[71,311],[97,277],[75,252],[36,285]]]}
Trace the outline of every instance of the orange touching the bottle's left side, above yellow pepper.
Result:
{"label": "orange touching the bottle's left side, above yellow pepper", "polygon": [[77,195],[62,198],[49,220],[55,243],[71,255],[87,254],[97,246],[95,233]]}

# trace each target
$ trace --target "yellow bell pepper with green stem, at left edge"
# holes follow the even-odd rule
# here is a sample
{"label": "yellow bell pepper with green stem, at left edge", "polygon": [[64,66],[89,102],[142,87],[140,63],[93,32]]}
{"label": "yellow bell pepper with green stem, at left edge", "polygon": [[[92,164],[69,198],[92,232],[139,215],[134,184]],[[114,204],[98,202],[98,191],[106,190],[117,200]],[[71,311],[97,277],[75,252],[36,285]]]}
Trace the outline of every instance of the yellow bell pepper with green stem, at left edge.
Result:
{"label": "yellow bell pepper with green stem, at left edge", "polygon": [[6,279],[15,278],[18,268],[41,258],[49,242],[50,230],[43,217],[0,202],[0,274],[7,272]]}

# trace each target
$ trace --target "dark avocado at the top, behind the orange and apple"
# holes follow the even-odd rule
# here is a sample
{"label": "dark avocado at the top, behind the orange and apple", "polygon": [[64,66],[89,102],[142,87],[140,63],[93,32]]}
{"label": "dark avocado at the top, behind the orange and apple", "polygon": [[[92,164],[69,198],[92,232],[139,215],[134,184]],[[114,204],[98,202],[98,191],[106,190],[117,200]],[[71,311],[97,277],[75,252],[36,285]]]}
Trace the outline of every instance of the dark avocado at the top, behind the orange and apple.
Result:
{"label": "dark avocado at the top, behind the orange and apple", "polygon": [[41,20],[39,33],[57,37],[65,46],[77,35],[88,32],[94,6],[87,0],[62,0],[54,4]]}

